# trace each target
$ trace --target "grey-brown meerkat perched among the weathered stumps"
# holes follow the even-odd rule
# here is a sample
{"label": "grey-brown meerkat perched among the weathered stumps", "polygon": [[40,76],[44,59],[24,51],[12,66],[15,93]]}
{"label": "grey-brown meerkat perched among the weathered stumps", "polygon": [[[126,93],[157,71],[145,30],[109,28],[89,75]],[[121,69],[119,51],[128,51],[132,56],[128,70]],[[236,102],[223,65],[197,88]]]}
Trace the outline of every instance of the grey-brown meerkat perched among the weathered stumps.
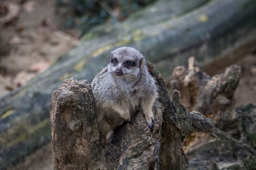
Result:
{"label": "grey-brown meerkat perched among the weathered stumps", "polygon": [[135,48],[120,47],[110,53],[109,64],[92,81],[97,108],[97,122],[102,144],[108,134],[141,109],[152,131],[152,106],[157,99],[157,85],[148,72],[145,57]]}

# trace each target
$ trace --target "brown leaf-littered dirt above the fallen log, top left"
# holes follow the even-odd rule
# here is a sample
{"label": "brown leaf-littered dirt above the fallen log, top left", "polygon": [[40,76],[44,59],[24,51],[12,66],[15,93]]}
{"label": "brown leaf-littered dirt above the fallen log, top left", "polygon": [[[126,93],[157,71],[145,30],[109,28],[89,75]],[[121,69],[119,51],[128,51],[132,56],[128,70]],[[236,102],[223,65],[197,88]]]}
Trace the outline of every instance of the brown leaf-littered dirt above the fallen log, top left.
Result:
{"label": "brown leaf-littered dirt above the fallen log, top left", "polygon": [[61,31],[55,1],[22,2],[0,2],[0,97],[24,85],[79,43],[77,32]]}

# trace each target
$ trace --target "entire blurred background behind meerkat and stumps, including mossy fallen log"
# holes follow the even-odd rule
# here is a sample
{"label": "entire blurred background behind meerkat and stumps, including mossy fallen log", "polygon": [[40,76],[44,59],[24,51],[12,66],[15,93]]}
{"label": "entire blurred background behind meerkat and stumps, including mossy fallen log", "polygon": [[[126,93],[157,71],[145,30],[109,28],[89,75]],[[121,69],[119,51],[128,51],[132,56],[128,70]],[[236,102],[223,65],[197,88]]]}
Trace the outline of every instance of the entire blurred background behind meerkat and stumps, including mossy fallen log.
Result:
{"label": "entire blurred background behind meerkat and stumps, including mossy fallen log", "polygon": [[255,16],[254,0],[1,0],[0,169],[52,169],[52,91],[92,81],[118,46],[167,83],[191,56],[211,76],[239,64],[235,105],[256,104]]}

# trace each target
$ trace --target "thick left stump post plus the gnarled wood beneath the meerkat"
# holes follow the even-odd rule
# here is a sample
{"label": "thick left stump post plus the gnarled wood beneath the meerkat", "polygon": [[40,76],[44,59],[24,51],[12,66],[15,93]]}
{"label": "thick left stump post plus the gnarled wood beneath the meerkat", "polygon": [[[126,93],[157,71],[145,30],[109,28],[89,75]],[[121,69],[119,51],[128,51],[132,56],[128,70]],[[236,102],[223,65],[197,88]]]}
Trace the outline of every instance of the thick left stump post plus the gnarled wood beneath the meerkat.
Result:
{"label": "thick left stump post plus the gnarled wood beneath the meerkat", "polygon": [[[161,124],[160,103],[154,105]],[[51,127],[54,169],[148,169],[141,154],[156,143],[143,113],[115,130],[104,153],[100,144],[92,89],[87,81],[65,80],[52,94]]]}

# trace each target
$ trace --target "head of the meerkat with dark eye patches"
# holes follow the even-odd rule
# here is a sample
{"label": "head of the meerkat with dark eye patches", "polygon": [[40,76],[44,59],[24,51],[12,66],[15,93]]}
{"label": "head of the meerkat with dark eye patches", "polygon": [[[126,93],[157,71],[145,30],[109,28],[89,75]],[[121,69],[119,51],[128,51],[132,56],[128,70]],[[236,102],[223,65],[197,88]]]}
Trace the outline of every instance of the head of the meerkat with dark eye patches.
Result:
{"label": "head of the meerkat with dark eye patches", "polygon": [[116,77],[137,78],[144,66],[143,55],[131,47],[120,47],[110,53],[108,71]]}

